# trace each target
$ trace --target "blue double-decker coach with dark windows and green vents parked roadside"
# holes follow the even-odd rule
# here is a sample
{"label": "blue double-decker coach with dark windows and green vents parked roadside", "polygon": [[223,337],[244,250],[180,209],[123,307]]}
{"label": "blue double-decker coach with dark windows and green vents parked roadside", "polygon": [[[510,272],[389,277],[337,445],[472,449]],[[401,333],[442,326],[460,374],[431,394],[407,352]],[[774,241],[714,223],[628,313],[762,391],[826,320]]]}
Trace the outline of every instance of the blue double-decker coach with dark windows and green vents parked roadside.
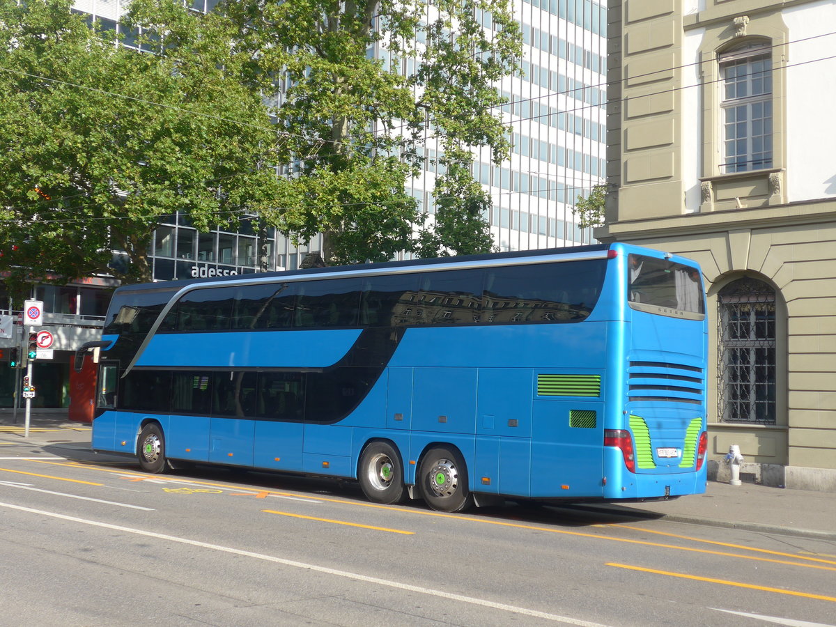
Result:
{"label": "blue double-decker coach with dark windows and green vents parked roadside", "polygon": [[129,285],[93,448],[359,481],[457,512],[499,497],[704,492],[696,263],[615,243]]}

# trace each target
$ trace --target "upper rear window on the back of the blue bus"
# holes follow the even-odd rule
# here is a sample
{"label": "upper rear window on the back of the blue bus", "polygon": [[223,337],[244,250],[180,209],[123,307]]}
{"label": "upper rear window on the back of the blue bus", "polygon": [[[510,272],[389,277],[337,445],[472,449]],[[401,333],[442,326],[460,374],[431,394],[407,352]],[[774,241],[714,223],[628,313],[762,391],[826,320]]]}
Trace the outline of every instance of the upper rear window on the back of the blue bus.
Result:
{"label": "upper rear window on the back of the blue bus", "polygon": [[630,307],[652,314],[706,313],[697,268],[644,255],[631,254],[628,258]]}

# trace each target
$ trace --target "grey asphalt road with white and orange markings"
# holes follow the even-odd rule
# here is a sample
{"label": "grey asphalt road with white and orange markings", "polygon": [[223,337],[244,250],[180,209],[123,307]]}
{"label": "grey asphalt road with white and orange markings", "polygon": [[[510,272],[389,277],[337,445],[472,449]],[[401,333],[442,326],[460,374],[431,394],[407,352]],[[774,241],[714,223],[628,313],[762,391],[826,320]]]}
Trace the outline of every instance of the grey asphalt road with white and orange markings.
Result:
{"label": "grey asphalt road with white and orange markings", "polygon": [[836,543],[0,446],[0,625],[836,624]]}

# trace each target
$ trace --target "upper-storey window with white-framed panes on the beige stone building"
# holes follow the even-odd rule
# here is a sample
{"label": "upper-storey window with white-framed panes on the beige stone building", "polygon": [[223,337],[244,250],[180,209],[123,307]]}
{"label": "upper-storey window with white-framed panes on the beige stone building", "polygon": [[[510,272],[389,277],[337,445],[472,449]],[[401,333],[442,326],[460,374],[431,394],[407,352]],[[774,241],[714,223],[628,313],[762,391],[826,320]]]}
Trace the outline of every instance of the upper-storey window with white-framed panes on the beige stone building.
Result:
{"label": "upper-storey window with white-framed panes on the beige stone building", "polygon": [[720,55],[723,174],[772,167],[772,50],[751,43]]}

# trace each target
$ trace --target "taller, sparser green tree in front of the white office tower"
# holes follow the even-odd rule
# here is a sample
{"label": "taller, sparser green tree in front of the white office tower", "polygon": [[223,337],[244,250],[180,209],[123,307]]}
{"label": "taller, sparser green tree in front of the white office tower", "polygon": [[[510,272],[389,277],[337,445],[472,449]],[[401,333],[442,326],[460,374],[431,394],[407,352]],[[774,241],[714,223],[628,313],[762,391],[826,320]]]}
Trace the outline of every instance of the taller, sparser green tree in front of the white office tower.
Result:
{"label": "taller, sparser green tree in front of the white office tower", "polygon": [[[509,147],[494,87],[521,54],[508,0],[243,0],[223,10],[252,57],[247,79],[265,94],[283,87],[273,108],[288,131],[282,232],[297,242],[323,232],[326,263],[491,249],[472,149],[489,147],[498,165]],[[384,59],[370,54],[375,44]],[[406,190],[425,164],[437,173],[431,225]]]}

